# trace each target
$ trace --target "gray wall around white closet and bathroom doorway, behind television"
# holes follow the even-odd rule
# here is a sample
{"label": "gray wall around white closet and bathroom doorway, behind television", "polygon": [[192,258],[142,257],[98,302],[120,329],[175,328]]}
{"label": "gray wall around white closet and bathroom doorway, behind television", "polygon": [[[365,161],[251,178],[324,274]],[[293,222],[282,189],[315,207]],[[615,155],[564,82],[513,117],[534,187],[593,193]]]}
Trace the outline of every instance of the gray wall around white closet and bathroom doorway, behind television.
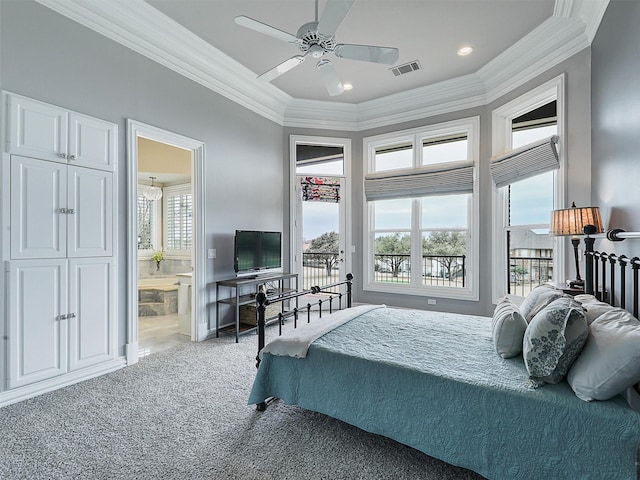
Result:
{"label": "gray wall around white closet and bathroom doorway, behind television", "polygon": [[[236,228],[283,229],[282,127],[31,0],[2,1],[0,87],[118,124],[118,331],[126,332],[126,119],[205,143],[206,281],[233,275]],[[215,290],[209,288],[209,290]],[[215,292],[210,292],[211,299]],[[210,324],[215,323],[211,309]]]}

